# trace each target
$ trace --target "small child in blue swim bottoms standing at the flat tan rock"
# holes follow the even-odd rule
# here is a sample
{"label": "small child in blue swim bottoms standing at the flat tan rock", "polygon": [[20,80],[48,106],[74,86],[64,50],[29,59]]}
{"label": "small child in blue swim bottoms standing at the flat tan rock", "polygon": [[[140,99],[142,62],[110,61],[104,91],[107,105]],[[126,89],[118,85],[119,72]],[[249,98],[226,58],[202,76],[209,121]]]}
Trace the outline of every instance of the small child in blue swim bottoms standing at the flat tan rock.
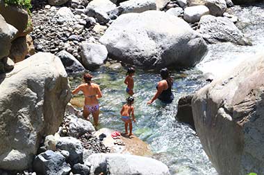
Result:
{"label": "small child in blue swim bottoms standing at the flat tan rock", "polygon": [[[132,136],[132,121],[130,116],[132,117],[133,122],[135,122],[135,116],[134,116],[134,107],[132,106],[134,102],[134,98],[133,97],[129,97],[126,99],[126,104],[123,105],[120,114],[122,116],[122,120],[124,121],[124,129],[125,129],[125,133],[128,134],[129,136]],[[127,130],[129,126],[129,132]]]}

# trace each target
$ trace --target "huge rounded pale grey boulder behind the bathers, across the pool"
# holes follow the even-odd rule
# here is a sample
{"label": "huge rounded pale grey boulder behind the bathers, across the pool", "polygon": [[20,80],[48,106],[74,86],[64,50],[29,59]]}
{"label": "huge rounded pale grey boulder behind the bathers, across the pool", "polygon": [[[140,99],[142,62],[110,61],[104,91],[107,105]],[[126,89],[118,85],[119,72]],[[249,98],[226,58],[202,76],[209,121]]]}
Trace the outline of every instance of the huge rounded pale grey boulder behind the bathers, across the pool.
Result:
{"label": "huge rounded pale grey boulder behind the bathers, across the pool", "polygon": [[119,16],[99,41],[113,59],[143,68],[195,66],[207,51],[183,19],[154,10]]}

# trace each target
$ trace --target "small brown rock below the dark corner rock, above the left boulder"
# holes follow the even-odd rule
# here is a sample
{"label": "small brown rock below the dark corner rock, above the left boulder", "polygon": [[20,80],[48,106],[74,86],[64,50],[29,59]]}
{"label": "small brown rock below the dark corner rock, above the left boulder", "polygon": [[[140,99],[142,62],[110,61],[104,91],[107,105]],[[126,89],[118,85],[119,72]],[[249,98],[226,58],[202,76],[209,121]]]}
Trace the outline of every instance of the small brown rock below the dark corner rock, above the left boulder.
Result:
{"label": "small brown rock below the dark corner rock, above the left boulder", "polygon": [[23,61],[26,55],[28,55],[26,37],[18,37],[12,42],[9,57],[16,63]]}

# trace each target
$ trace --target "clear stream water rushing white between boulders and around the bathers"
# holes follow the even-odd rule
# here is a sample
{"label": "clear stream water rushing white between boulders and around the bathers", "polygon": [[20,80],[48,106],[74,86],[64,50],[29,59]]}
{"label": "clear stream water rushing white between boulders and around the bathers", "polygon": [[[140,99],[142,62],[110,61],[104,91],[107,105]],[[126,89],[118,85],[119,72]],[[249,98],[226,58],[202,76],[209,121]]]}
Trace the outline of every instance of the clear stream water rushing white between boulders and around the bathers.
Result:
{"label": "clear stream water rushing white between boulders and around the bathers", "polygon": [[[147,142],[154,152],[154,158],[165,163],[171,174],[178,175],[215,175],[217,172],[204,153],[199,138],[187,125],[176,119],[177,102],[183,95],[195,92],[206,84],[205,73],[215,77],[222,75],[238,65],[244,59],[264,48],[264,8],[256,6],[232,8],[238,16],[239,28],[252,41],[253,46],[235,46],[230,43],[209,46],[208,55],[195,68],[188,71],[174,72],[174,102],[163,106],[158,102],[147,105],[156,92],[156,83],[160,77],[156,73],[137,70],[135,73],[135,117],[136,125],[133,132]],[[124,130],[119,111],[125,102],[126,71],[113,71],[100,68],[92,72],[94,82],[100,84],[103,98],[100,100],[100,127],[108,127],[119,131]],[[81,75],[74,75],[72,88],[81,82]]]}

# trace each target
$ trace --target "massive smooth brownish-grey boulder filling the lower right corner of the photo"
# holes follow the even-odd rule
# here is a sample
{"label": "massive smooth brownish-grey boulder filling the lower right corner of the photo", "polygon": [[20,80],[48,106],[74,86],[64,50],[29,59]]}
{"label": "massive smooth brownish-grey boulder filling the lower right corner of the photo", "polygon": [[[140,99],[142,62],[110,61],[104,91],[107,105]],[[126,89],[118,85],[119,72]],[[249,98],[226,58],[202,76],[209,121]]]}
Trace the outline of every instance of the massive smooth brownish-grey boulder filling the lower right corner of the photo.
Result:
{"label": "massive smooth brownish-grey boulder filling the lower right corner of the photo", "polygon": [[192,114],[201,144],[218,174],[264,172],[264,55],[197,91]]}

